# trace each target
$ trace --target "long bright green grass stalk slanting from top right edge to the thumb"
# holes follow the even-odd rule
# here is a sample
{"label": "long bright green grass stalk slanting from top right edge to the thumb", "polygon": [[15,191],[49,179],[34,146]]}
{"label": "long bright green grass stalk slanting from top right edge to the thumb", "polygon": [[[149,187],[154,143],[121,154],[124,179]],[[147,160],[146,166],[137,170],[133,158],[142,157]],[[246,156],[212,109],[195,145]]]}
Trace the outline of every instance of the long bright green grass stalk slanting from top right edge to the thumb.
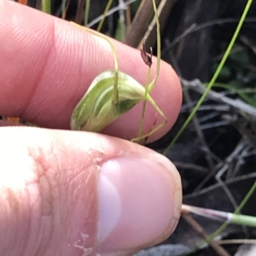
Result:
{"label": "long bright green grass stalk slanting from top right edge to the thumb", "polygon": [[212,85],[215,83],[216,79],[218,78],[218,75],[221,71],[221,69],[224,67],[224,63],[227,60],[228,56],[230,55],[230,51],[233,48],[236,38],[241,30],[241,26],[244,23],[244,20],[247,16],[248,10],[250,9],[251,5],[253,3],[253,0],[248,0],[247,1],[247,5],[243,11],[243,14],[241,15],[241,20],[239,20],[239,23],[236,27],[236,31],[233,35],[233,37],[231,38],[230,44],[228,46],[228,48],[226,49],[224,56],[222,58],[222,60],[220,61],[218,68],[216,70],[216,72],[213,74],[213,77],[210,81],[210,83],[207,86],[207,89],[205,90],[205,92],[203,93],[203,95],[201,96],[200,100],[197,102],[197,104],[195,105],[195,108],[193,109],[193,111],[189,114],[188,119],[185,121],[185,123],[183,124],[183,126],[180,128],[180,130],[177,132],[177,135],[173,138],[172,142],[168,145],[168,147],[166,148],[166,150],[164,151],[164,155],[166,155],[168,153],[168,151],[170,150],[170,148],[172,147],[172,145],[174,143],[176,143],[177,138],[180,137],[180,135],[183,133],[183,131],[185,130],[185,128],[187,127],[187,125],[189,125],[189,122],[191,121],[191,119],[193,119],[196,111],[198,110],[198,108],[200,108],[201,103],[206,99],[208,92],[212,89]]}

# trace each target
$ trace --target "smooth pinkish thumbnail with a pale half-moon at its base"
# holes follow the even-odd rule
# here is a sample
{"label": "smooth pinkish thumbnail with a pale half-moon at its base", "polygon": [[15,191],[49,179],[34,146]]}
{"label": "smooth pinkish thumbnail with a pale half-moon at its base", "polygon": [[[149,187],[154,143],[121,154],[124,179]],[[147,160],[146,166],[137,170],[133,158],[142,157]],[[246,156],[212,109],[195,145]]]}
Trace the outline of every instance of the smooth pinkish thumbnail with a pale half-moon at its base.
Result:
{"label": "smooth pinkish thumbnail with a pale half-moon at its base", "polygon": [[173,169],[163,157],[159,161],[120,157],[102,164],[98,225],[102,255],[135,251],[170,235],[181,205],[181,193],[177,196],[175,191],[180,181]]}

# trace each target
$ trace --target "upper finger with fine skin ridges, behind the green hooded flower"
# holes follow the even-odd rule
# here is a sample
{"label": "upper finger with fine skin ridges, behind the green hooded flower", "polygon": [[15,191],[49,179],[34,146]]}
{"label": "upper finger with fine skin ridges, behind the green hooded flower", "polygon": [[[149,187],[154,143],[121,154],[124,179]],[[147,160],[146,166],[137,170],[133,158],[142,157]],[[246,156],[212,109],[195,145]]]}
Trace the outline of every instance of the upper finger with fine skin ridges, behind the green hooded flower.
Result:
{"label": "upper finger with fine skin ridges, behind the green hooded flower", "polygon": [[[40,126],[69,128],[73,108],[103,70],[113,68],[108,43],[67,21],[45,15],[18,3],[1,1],[0,8],[0,110]],[[15,18],[14,18],[15,17]],[[113,41],[121,71],[145,84],[147,67],[137,49]],[[155,71],[155,59],[153,74]],[[177,75],[165,62],[152,96],[166,114],[170,129],[181,105]],[[148,103],[145,131],[163,121]],[[105,132],[131,138],[137,136],[142,104],[110,125]],[[144,131],[144,132],[145,132]]]}

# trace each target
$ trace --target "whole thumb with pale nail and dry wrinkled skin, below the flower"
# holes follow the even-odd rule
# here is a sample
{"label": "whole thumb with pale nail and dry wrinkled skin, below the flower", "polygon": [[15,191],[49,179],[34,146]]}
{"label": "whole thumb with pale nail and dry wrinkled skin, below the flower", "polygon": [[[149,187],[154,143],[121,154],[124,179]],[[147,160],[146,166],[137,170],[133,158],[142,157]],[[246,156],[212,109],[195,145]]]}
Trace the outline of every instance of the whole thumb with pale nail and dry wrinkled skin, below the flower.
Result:
{"label": "whole thumb with pale nail and dry wrinkled skin, below the flower", "polygon": [[0,255],[130,255],[177,225],[180,177],[148,148],[32,127],[0,141]]}

